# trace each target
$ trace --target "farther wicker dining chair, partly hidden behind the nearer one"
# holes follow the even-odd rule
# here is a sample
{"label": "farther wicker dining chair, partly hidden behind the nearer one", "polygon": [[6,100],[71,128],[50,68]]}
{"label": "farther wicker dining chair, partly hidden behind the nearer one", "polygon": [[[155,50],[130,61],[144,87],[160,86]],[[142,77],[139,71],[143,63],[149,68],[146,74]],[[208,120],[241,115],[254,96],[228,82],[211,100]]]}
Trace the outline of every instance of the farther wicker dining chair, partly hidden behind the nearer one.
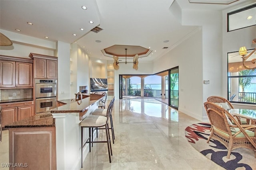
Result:
{"label": "farther wicker dining chair, partly hidden behind the nearer one", "polygon": [[[234,109],[234,106],[226,98],[222,98],[220,96],[210,96],[207,98],[207,102],[215,103],[215,104],[223,107],[224,109]],[[239,117],[239,116],[234,116],[234,117],[237,119],[237,121],[238,121],[238,123],[240,123],[240,125],[249,124],[248,120],[241,119],[241,117]]]}

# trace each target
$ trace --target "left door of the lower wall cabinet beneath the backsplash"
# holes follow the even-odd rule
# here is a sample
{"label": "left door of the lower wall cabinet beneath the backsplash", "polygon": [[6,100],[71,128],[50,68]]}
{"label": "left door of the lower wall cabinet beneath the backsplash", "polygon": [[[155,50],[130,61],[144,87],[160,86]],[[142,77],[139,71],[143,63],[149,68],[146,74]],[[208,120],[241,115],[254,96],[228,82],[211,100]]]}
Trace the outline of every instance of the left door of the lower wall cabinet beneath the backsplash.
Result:
{"label": "left door of the lower wall cabinet beneath the backsplash", "polygon": [[2,109],[2,127],[4,125],[17,121],[17,107],[9,107]]}

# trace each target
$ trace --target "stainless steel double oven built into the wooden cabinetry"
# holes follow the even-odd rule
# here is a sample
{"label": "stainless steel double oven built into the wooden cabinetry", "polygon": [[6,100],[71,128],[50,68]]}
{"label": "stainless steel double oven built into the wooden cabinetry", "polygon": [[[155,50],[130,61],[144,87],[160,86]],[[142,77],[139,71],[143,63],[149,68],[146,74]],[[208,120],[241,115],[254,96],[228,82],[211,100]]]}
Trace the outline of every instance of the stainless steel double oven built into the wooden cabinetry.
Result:
{"label": "stainless steel double oven built into the wooden cabinetry", "polygon": [[36,114],[56,107],[57,80],[36,79]]}

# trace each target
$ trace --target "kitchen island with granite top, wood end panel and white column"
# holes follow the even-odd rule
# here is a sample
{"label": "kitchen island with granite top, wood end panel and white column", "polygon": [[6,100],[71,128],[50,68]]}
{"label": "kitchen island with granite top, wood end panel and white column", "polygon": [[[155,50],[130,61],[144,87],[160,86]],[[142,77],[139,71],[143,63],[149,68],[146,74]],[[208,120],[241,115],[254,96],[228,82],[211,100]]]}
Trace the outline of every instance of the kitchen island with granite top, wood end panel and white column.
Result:
{"label": "kitchen island with granite top, wood end panel and white column", "polygon": [[[77,102],[65,100],[66,104],[52,109],[50,113],[5,125],[9,129],[9,162],[36,170],[79,170],[79,124],[98,108],[102,98],[103,95],[92,94]],[[86,132],[84,135],[88,136]],[[84,154],[87,153],[85,147]],[[20,167],[10,169],[17,168]]]}

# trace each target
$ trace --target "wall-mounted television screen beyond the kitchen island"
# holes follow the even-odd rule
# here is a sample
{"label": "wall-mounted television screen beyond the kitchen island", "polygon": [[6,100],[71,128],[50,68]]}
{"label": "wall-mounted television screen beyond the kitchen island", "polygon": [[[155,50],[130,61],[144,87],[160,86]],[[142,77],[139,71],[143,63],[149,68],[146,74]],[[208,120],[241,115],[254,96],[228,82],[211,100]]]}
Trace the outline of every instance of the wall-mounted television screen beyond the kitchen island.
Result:
{"label": "wall-mounted television screen beyond the kitchen island", "polygon": [[90,78],[91,92],[108,90],[108,79],[106,78]]}

